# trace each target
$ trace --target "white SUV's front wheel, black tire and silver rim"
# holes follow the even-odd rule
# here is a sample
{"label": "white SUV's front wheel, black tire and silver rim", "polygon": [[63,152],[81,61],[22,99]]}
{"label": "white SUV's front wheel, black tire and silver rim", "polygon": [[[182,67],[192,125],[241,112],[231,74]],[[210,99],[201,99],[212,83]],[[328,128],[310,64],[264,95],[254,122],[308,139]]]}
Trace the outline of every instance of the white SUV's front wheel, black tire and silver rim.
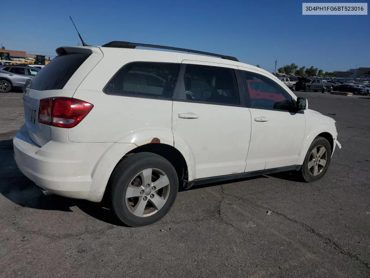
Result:
{"label": "white SUV's front wheel, black tire and silver rim", "polygon": [[[322,147],[325,152],[319,156],[319,158],[315,158],[314,160],[313,150],[316,149],[317,155],[319,155]],[[332,148],[330,147],[328,140],[321,136],[316,137],[306,153],[306,157],[305,160],[303,160],[301,168],[298,170],[299,178],[305,182],[319,181],[325,175],[327,169],[329,169],[331,157]],[[322,165],[323,160],[326,160],[325,165]],[[313,166],[309,168],[312,163]],[[317,168],[317,173],[315,173],[315,168]]]}

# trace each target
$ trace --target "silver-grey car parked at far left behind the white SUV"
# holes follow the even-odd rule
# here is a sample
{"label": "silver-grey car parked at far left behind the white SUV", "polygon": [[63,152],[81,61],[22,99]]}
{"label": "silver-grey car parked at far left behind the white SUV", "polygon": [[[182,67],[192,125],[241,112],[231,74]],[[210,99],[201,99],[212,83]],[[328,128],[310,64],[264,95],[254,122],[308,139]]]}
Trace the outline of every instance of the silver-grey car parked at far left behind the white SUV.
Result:
{"label": "silver-grey car parked at far left behind the white SUV", "polygon": [[12,88],[20,89],[31,80],[40,69],[28,66],[2,66],[0,67],[0,92],[8,93]]}

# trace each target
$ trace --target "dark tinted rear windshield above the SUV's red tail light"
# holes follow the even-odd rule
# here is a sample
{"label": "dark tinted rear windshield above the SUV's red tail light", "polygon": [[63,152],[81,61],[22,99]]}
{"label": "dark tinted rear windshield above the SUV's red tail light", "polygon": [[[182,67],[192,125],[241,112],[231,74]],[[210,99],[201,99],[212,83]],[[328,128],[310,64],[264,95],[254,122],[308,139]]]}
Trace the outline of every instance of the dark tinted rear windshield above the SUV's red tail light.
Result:
{"label": "dark tinted rear windshield above the SUV's red tail light", "polygon": [[47,64],[45,69],[33,77],[28,87],[40,91],[63,89],[64,85],[90,55],[90,53],[73,53],[55,57]]}

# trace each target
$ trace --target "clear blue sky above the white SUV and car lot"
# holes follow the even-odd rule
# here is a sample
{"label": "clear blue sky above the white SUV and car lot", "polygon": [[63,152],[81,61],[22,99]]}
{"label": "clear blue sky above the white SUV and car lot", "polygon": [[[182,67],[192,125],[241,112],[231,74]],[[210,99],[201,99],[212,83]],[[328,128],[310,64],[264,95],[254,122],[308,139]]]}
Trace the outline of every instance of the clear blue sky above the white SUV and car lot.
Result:
{"label": "clear blue sky above the white SUV and car lot", "polygon": [[370,15],[303,16],[296,0],[36,0],[31,8],[17,0],[9,9],[18,16],[2,20],[0,43],[47,56],[79,42],[71,16],[90,45],[125,40],[184,47],[270,71],[275,59],[277,68],[293,62],[324,71],[370,67]]}

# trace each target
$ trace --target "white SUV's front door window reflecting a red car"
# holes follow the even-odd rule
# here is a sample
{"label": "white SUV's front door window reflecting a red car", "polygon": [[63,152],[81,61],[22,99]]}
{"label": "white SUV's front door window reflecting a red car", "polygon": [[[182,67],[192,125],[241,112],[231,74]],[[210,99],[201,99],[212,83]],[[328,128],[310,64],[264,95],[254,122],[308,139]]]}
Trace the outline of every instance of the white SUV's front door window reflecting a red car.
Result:
{"label": "white SUV's front door window reflecting a red car", "polygon": [[292,96],[275,80],[258,73],[240,71],[246,82],[245,90],[250,98],[250,108],[259,109],[292,109]]}

